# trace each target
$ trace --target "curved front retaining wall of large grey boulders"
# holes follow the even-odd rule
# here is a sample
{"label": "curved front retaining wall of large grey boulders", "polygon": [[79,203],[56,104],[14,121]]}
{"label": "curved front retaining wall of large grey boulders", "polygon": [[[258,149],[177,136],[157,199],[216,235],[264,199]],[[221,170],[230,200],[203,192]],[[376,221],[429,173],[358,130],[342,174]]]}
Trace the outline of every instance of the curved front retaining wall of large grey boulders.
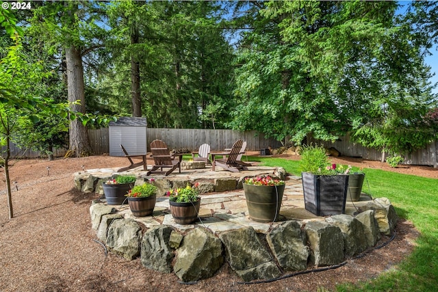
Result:
{"label": "curved front retaining wall of large grey boulders", "polygon": [[[181,281],[190,282],[214,276],[226,263],[243,281],[251,281],[276,278],[282,271],[336,265],[373,248],[381,233],[394,232],[398,217],[385,198],[367,206],[355,216],[286,220],[264,224],[265,229],[246,226],[215,233],[203,224],[168,225],[136,218],[99,200],[90,206],[90,215],[96,236],[108,250],[127,260],[140,256],[148,269],[175,272]],[[165,215],[163,222],[169,222],[166,216],[171,217]],[[230,214],[214,220],[220,217],[242,220]],[[147,229],[144,234],[141,224]]]}

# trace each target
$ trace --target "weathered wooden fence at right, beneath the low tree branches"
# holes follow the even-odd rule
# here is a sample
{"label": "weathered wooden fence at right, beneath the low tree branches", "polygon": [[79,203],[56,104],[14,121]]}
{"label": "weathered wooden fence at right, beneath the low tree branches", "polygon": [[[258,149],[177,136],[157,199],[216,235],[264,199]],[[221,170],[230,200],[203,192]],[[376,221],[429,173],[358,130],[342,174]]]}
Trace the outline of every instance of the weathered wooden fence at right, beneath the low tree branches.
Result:
{"label": "weathered wooden fence at right, beneath the low tree branches", "polygon": [[[368,160],[381,160],[382,151],[376,148],[367,148],[361,146],[361,144],[353,143],[350,141],[350,135],[339,137],[339,140],[334,143],[322,140],[315,140],[313,137],[307,137],[308,143],[317,145],[323,145],[326,148],[334,147],[341,152],[343,156],[349,157],[362,157]],[[438,142],[434,141],[428,144],[425,148],[416,150],[411,154],[404,154],[404,163],[412,165],[431,165],[434,168],[438,167],[437,157]],[[388,153],[385,153],[387,157]]]}

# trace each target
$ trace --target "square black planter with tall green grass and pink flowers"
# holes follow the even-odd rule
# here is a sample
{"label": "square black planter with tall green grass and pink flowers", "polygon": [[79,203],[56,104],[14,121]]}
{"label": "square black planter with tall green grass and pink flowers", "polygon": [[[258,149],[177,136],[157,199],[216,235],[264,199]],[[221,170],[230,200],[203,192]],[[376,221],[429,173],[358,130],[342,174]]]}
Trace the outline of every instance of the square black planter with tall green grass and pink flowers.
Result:
{"label": "square black planter with tall green grass and pink flowers", "polygon": [[345,213],[349,176],[337,175],[322,146],[304,146],[300,155],[305,209],[318,216]]}

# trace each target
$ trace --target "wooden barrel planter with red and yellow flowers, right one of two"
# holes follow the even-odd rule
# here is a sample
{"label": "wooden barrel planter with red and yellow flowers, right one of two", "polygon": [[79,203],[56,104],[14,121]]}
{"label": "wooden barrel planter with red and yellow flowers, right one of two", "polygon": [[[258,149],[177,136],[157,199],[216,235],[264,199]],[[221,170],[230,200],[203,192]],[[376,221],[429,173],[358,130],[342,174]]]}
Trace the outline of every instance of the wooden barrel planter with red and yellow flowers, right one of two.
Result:
{"label": "wooden barrel planter with red and yellow flowers, right one of two", "polygon": [[192,187],[170,189],[166,195],[169,197],[170,213],[177,224],[190,224],[198,218],[201,206],[198,183]]}

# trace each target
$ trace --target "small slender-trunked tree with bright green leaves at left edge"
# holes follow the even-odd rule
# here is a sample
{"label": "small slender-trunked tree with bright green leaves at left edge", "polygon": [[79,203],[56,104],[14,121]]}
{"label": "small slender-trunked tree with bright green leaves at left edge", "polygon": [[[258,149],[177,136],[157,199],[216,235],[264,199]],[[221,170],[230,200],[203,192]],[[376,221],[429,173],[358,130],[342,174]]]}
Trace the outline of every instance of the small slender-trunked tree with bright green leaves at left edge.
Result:
{"label": "small slender-trunked tree with bright green leaves at left edge", "polygon": [[9,219],[12,219],[14,211],[8,165],[12,137],[22,124],[38,122],[41,116],[60,116],[62,111],[65,114],[61,116],[66,116],[66,105],[40,96],[38,84],[49,74],[43,72],[41,64],[34,59],[27,62],[21,45],[23,31],[15,25],[14,16],[8,10],[0,10],[0,23],[14,41],[14,45],[8,48],[8,55],[0,60],[0,143],[6,146],[1,156],[4,160]]}

